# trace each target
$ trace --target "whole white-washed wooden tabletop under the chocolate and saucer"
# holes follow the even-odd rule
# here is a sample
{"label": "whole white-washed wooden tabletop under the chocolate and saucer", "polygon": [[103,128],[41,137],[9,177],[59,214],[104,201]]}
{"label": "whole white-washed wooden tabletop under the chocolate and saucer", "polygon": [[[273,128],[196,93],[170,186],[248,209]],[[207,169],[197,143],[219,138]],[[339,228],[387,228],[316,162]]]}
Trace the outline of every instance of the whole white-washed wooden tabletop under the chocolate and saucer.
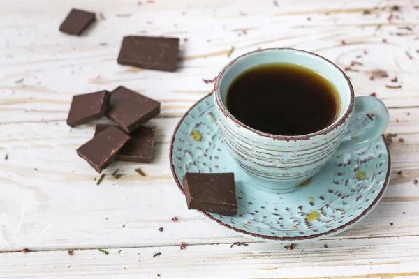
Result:
{"label": "whole white-washed wooden tabletop under the chocolate and saucer", "polygon": [[[418,278],[418,4],[2,0],[0,277]],[[100,15],[80,37],[58,31],[73,7]],[[126,35],[180,38],[177,72],[118,65]],[[353,229],[292,251],[188,211],[169,167],[177,122],[212,90],[203,79],[259,47],[309,50],[341,68],[359,62],[347,72],[356,95],[376,92],[390,110],[387,133],[397,133],[390,187],[376,209]],[[370,80],[374,70],[389,77]],[[388,87],[396,84],[402,88]],[[119,85],[161,102],[161,114],[149,121],[157,126],[154,160],[114,163],[105,174],[121,169],[123,176],[97,186],[98,174],[75,152],[94,123],[70,128],[66,117],[73,95]],[[247,246],[231,247],[237,241]]]}

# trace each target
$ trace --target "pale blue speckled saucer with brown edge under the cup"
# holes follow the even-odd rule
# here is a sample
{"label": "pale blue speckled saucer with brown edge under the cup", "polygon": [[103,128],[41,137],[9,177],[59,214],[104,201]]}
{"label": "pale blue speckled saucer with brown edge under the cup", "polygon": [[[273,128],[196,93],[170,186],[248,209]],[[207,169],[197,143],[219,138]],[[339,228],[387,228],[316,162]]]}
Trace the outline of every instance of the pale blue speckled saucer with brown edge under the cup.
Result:
{"label": "pale blue speckled saucer with brown edge under the cup", "polygon": [[[370,121],[367,116],[353,119],[347,136],[354,137],[353,130]],[[170,167],[182,193],[186,172],[233,172],[237,215],[202,213],[235,232],[293,243],[349,229],[374,209],[390,181],[390,153],[384,137],[379,137],[369,146],[334,156],[292,193],[255,187],[224,146],[212,94],[199,100],[179,121],[170,144]]]}

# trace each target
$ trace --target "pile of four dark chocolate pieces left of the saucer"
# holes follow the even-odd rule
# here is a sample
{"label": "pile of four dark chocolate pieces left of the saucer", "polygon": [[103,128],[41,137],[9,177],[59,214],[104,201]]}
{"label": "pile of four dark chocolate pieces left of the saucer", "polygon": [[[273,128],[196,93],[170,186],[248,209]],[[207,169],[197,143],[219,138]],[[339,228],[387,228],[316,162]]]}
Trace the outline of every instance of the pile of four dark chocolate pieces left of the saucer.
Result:
{"label": "pile of four dark chocolate pieces left of the saucer", "polygon": [[102,172],[114,160],[149,163],[154,128],[142,126],[160,113],[160,103],[119,86],[112,92],[98,91],[73,96],[67,124],[75,127],[107,116],[117,125],[96,125],[93,139],[79,149],[80,157]]}

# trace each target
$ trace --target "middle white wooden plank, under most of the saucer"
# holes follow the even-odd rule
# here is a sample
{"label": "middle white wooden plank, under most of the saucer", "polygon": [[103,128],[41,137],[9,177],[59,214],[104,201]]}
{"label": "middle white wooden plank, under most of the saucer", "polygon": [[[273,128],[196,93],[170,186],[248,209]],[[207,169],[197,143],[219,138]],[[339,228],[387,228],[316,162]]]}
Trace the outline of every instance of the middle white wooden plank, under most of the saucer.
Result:
{"label": "middle white wooden plank, under most of the saucer", "polygon": [[[413,179],[419,177],[419,109],[392,109],[390,119],[388,132],[398,134],[391,146],[391,185],[383,202],[360,225],[334,239],[418,235],[419,195]],[[106,176],[100,186],[94,181],[98,174],[75,153],[94,134],[94,124],[1,125],[0,250],[249,241],[186,209],[168,162],[178,121],[150,121],[157,127],[153,162],[117,162],[105,174],[120,168],[123,176],[118,180]],[[8,160],[3,160],[6,154]],[[147,176],[138,176],[136,167]],[[402,176],[397,175],[399,170]],[[173,216],[179,221],[172,222]],[[159,227],[164,232],[158,232]]]}

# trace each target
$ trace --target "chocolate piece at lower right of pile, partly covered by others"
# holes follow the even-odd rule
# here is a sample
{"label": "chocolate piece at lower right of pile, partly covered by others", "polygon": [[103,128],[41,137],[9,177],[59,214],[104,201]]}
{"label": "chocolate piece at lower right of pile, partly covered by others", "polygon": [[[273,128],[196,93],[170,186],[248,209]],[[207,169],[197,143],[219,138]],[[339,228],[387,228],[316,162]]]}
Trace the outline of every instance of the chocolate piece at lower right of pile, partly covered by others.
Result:
{"label": "chocolate piece at lower right of pile, partly covered by others", "polygon": [[[112,125],[97,124],[94,135]],[[131,133],[131,140],[122,148],[117,156],[119,161],[150,163],[154,147],[154,128],[141,126]]]}

